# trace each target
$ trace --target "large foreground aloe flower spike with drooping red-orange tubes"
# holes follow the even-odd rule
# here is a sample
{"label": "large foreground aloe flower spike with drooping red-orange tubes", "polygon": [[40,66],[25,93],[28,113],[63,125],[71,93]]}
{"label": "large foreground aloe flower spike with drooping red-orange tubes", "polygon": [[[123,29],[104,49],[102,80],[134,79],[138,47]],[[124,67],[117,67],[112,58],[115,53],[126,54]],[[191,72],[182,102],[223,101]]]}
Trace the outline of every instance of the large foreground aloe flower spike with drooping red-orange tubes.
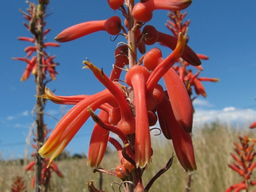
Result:
{"label": "large foreground aloe flower spike with drooping red-orange tubes", "polygon": [[[175,10],[180,10],[191,4],[191,0],[172,0],[168,5],[165,2],[149,0],[142,3],[147,3],[149,7],[156,3],[157,6],[155,5],[151,11],[164,9],[163,7],[168,10],[175,7]],[[119,6],[125,17],[126,28],[121,25],[120,18],[113,16],[107,20],[88,21],[74,25],[62,31],[55,39],[65,42],[89,35],[92,32],[105,30],[112,35],[122,31],[128,43],[118,46],[115,50],[115,66],[110,77],[92,62],[84,61],[86,68],[89,68],[106,87],[104,91],[92,96],[65,97],[56,96],[46,89],[46,95],[41,97],[55,103],[75,104],[75,106],[58,123],[39,153],[42,157],[48,157],[52,161],[67,146],[84,122],[92,116],[96,124],[90,140],[87,165],[98,168],[107,143],[110,142],[118,151],[120,164],[117,165],[119,171],[106,172],[120,177],[124,181],[123,185],[126,191],[148,191],[153,180],[144,188],[141,177],[145,168],[149,166],[153,155],[149,126],[154,126],[157,123],[157,118],[161,121],[160,126],[164,136],[173,140],[176,155],[182,167],[185,170],[197,169],[189,134],[192,131],[192,105],[186,87],[172,66],[180,57],[187,59],[195,66],[199,66],[201,61],[186,45],[186,33],[180,32],[178,37],[172,37],[158,32],[154,27],[147,27],[149,25],[146,25],[144,19],[136,18],[135,13],[137,14],[138,10],[135,10],[134,7],[140,3],[135,4],[134,1],[129,0],[109,0],[108,3],[111,9],[117,9],[116,5]],[[164,44],[165,42],[161,41],[163,36],[170,38],[165,44],[170,47],[170,55],[167,58],[162,58],[161,53],[155,54],[156,56],[150,59],[154,60],[154,66],[151,66],[150,63],[146,64],[146,61],[145,65],[142,65],[144,60],[142,57],[138,61],[137,48],[139,51],[145,52],[145,45],[156,42]],[[141,44],[144,46],[140,49]],[[126,65],[129,65],[129,69]],[[123,69],[124,67],[126,69]],[[126,71],[125,83],[118,80],[121,71]],[[158,84],[162,77],[167,90]],[[98,115],[94,112],[96,109],[101,109]],[[160,109],[165,110],[165,113],[158,113]],[[120,145],[110,137],[110,131],[120,137],[122,141]],[[169,161],[167,167],[170,167],[171,163],[172,161]],[[90,190],[95,189],[93,182],[89,183],[89,188]]]}

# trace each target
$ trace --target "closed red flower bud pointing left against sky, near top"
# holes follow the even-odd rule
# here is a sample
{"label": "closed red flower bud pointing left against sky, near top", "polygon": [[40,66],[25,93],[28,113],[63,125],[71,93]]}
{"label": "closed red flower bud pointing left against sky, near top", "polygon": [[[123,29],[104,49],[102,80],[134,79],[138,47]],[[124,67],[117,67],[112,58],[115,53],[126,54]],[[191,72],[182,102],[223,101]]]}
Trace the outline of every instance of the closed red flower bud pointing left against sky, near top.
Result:
{"label": "closed red flower bud pointing left against sky, near top", "polygon": [[102,21],[87,21],[73,25],[55,37],[58,42],[72,41],[85,35],[97,31],[107,31],[111,35],[117,35],[121,31],[121,19],[118,16],[112,16]]}

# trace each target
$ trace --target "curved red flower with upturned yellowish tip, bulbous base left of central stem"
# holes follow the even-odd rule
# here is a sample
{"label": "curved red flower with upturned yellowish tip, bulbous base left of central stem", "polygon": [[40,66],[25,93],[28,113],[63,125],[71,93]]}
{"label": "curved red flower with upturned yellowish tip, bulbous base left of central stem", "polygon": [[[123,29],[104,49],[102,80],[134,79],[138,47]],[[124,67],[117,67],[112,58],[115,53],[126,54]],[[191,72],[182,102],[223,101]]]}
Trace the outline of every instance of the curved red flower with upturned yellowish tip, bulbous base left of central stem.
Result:
{"label": "curved red flower with upturned yellowish tip, bulbous base left of central stem", "polygon": [[121,85],[118,82],[112,82],[102,70],[97,68],[90,62],[84,61],[92,71],[95,77],[115,96],[121,112],[121,120],[117,124],[124,134],[135,133],[135,118],[132,111],[126,102]]}

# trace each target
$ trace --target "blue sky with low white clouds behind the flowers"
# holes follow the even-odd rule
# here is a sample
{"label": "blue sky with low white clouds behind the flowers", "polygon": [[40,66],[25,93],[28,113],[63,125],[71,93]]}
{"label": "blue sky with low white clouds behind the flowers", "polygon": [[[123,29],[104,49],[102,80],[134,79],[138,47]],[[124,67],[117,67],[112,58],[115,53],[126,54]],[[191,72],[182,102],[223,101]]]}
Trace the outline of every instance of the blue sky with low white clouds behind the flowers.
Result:
{"label": "blue sky with low white clouds behind the flowers", "polygon": [[[61,2],[61,3],[60,3]],[[232,2],[232,3],[231,3]],[[25,139],[33,123],[31,111],[35,104],[34,78],[21,82],[25,63],[11,60],[12,57],[24,57],[24,48],[31,45],[18,41],[17,37],[28,36],[30,33],[23,26],[25,19],[19,8],[25,10],[27,3],[21,0],[0,1],[0,151],[1,158],[17,158],[24,156]],[[195,124],[214,121],[219,118],[223,122],[240,121],[244,125],[256,120],[256,36],[255,13],[256,1],[205,1],[194,0],[185,11],[189,25],[189,46],[196,52],[209,56],[203,61],[204,71],[201,77],[219,78],[218,83],[205,82],[207,97],[195,100]],[[47,27],[52,30],[46,41],[54,41],[54,37],[67,27],[92,20],[103,20],[113,15],[121,17],[119,11],[114,12],[105,0],[94,1],[50,1],[47,7]],[[123,19],[121,17],[121,19]],[[149,24],[158,31],[170,34],[164,26],[167,11],[159,10],[153,14]],[[97,32],[87,37],[67,43],[59,48],[47,49],[50,55],[56,55],[57,80],[47,84],[56,95],[91,95],[104,89],[95,80],[88,69],[82,69],[84,61],[90,61],[104,68],[110,74],[114,63],[116,44],[125,41],[118,37],[110,41],[106,32]],[[163,47],[161,47],[163,48]],[[149,50],[149,48],[147,49]],[[170,50],[163,48],[163,55]],[[46,113],[60,119],[62,111],[67,112],[71,106],[60,106],[47,103]],[[55,127],[57,120],[46,116],[48,127]],[[81,128],[67,146],[71,154],[87,153],[93,122]]]}

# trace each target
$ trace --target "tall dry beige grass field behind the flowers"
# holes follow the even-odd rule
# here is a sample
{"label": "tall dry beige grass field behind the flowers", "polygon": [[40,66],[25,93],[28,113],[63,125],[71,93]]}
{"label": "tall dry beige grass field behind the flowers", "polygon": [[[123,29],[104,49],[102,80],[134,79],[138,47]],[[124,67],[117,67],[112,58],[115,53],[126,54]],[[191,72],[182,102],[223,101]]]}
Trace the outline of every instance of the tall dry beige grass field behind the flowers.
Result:
{"label": "tall dry beige grass field behind the flowers", "polygon": [[[194,144],[197,171],[192,174],[191,192],[222,192],[228,186],[241,181],[241,177],[228,167],[232,163],[230,152],[234,152],[234,142],[238,142],[238,135],[249,134],[256,138],[256,132],[249,128],[232,128],[223,124],[213,123],[203,128],[194,128],[192,140]],[[144,172],[144,185],[160,170],[172,157],[174,152],[172,142],[166,142],[161,136],[152,137],[154,155],[152,162]],[[175,155],[175,154],[174,154]],[[87,192],[86,183],[94,180],[95,186],[99,186],[99,173],[93,173],[93,168],[86,165],[86,159],[57,161],[59,169],[65,175],[63,179],[54,173],[51,180],[53,192]],[[104,157],[101,167],[110,169],[119,164],[117,153],[113,152]],[[12,180],[16,175],[23,175],[24,167],[18,161],[0,163],[0,191],[9,192]],[[32,173],[25,174],[25,182],[30,185]],[[185,192],[188,173],[186,173],[177,158],[173,160],[170,169],[158,178],[150,191],[161,192]],[[256,179],[256,173],[252,178]],[[103,174],[103,190],[113,191],[112,182],[120,182],[118,178]],[[118,185],[114,184],[115,191]],[[256,188],[251,189],[256,190]],[[33,191],[28,188],[28,192]]]}

